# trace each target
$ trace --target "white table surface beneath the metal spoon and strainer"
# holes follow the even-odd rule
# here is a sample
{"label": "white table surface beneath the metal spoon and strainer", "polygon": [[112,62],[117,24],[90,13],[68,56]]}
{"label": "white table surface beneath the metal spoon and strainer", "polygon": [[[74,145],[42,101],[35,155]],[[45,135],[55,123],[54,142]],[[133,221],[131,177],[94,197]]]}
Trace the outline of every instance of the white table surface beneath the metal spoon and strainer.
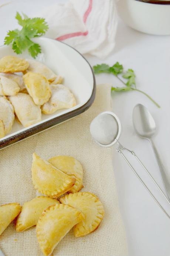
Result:
{"label": "white table surface beneath the metal spoon and strainer", "polygon": [[[1,3],[7,2],[1,1]],[[29,15],[33,13],[33,10],[34,12],[41,10],[44,6],[49,6],[56,1],[22,0],[19,3],[15,2],[13,8],[5,6],[0,9],[0,44],[3,44],[6,31],[16,28],[17,22],[14,20],[16,11],[23,11]],[[65,2],[65,0],[59,2]],[[149,142],[140,139],[134,132],[132,110],[137,103],[142,103],[152,113],[157,124],[154,141],[159,147],[163,162],[170,175],[170,37],[142,34],[119,21],[113,53],[105,60],[99,60],[89,55],[85,55],[85,57],[92,66],[97,63],[112,65],[119,61],[125,69],[132,68],[136,73],[137,88],[150,94],[161,105],[161,109],[158,109],[146,96],[138,92],[112,93],[113,112],[118,115],[122,123],[120,142],[136,152],[164,189]],[[96,76],[96,82],[97,84],[112,83],[113,86],[121,85],[115,77],[109,74]],[[133,166],[136,167],[154,195],[170,213],[170,207],[160,196],[153,182],[145,175],[133,157],[127,156],[133,161]],[[129,256],[170,256],[170,220],[115,151],[113,152],[113,166],[120,212],[127,234]]]}

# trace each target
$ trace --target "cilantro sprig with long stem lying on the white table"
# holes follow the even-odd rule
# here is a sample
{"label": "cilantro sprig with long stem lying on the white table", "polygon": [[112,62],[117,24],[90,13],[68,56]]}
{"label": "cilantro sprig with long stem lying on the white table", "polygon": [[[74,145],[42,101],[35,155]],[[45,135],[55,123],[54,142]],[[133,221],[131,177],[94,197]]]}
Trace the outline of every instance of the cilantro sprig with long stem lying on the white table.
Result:
{"label": "cilantro sprig with long stem lying on the white table", "polygon": [[[132,69],[128,69],[126,72],[123,71],[123,66],[119,64],[119,62],[116,62],[113,66],[109,66],[108,64],[101,64],[101,65],[96,65],[93,66],[93,70],[95,74],[100,74],[100,73],[109,73],[113,74],[116,76],[122,83],[123,87],[112,87],[112,91],[115,92],[127,92],[127,91],[137,91],[140,93],[145,94],[157,107],[160,108],[160,105],[155,102],[152,97],[150,97],[147,93],[139,90],[136,88],[136,76],[135,73]],[[124,78],[124,80],[122,79]]]}

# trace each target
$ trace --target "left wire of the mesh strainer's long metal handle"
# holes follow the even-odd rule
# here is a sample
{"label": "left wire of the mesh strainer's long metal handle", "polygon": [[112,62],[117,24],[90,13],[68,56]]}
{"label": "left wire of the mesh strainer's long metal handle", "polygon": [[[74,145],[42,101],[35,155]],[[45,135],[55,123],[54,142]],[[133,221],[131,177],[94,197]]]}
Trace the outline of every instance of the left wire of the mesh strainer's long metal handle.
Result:
{"label": "left wire of the mesh strainer's long metal handle", "polygon": [[[126,149],[124,147],[122,147],[122,149]],[[123,157],[123,159],[126,161],[126,163],[128,163],[128,165],[130,166],[130,168],[132,169],[132,171],[135,173],[135,175],[137,176],[137,178],[140,180],[140,182],[143,184],[143,186],[146,188],[146,190],[149,192],[149,194],[152,196],[152,198],[155,200],[155,202],[157,203],[157,205],[159,205],[159,207],[163,210],[163,212],[166,214],[167,217],[170,218],[170,215],[166,212],[166,210],[162,207],[162,205],[160,205],[160,203],[158,202],[158,200],[156,199],[156,197],[154,197],[154,195],[152,194],[152,192],[149,190],[149,188],[146,186],[145,182],[143,182],[143,180],[140,178],[140,176],[137,174],[137,172],[135,171],[135,169],[133,168],[133,166],[130,164],[130,162],[128,161],[128,159],[125,157],[125,155],[122,153],[122,150],[120,148],[116,149],[117,152],[119,152],[121,154],[121,156]],[[130,150],[128,150],[130,151]],[[133,151],[130,151],[131,153]],[[133,155],[135,155],[135,153],[133,152]],[[136,156],[136,155],[135,155]],[[139,160],[140,161],[140,160]],[[157,183],[156,183],[157,184]],[[169,201],[168,201],[169,202]]]}

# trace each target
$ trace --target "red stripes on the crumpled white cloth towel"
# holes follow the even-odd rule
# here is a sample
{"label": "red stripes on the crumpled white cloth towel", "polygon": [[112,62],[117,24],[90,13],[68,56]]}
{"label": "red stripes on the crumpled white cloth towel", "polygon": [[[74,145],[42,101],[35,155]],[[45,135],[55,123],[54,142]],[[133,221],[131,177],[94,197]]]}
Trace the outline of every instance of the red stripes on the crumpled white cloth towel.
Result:
{"label": "red stripes on the crumpled white cloth towel", "polygon": [[[89,6],[88,9],[85,11],[84,16],[83,16],[83,22],[86,23],[86,20],[89,16],[89,14],[91,13],[92,10],[92,1],[93,0],[89,0]],[[57,37],[55,40],[58,41],[63,41],[65,39],[71,38],[71,37],[75,37],[75,36],[86,36],[88,34],[88,30],[86,30],[85,32],[75,32],[75,33],[69,33],[69,34],[65,34],[63,36],[59,36]]]}

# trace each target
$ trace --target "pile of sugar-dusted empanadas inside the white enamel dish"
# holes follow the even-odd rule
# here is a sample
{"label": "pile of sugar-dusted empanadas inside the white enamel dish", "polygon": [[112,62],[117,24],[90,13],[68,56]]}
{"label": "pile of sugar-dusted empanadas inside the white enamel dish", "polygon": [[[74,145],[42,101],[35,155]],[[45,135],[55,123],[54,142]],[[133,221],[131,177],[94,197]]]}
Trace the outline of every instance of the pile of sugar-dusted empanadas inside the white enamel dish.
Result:
{"label": "pile of sugar-dusted empanadas inside the white enamel dish", "polygon": [[[17,121],[24,127],[40,122],[41,110],[44,114],[52,114],[59,109],[69,109],[76,105],[74,95],[61,84],[62,81],[61,76],[38,61],[16,56],[0,59],[0,103],[9,100]],[[10,115],[6,129],[3,119],[5,115],[3,107],[0,112],[0,138],[11,131],[14,122],[14,115]]]}

